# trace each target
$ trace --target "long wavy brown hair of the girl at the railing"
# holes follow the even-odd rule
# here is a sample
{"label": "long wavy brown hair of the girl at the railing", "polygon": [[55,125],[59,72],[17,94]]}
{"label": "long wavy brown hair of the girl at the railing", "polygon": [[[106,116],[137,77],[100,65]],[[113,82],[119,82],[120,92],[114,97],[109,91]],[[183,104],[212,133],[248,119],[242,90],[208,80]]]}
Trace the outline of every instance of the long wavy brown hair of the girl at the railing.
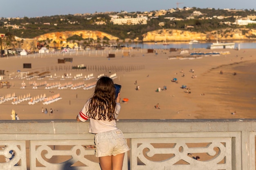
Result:
{"label": "long wavy brown hair of the girl at the railing", "polygon": [[115,86],[111,78],[101,77],[95,86],[94,95],[90,99],[88,116],[98,120],[115,120]]}

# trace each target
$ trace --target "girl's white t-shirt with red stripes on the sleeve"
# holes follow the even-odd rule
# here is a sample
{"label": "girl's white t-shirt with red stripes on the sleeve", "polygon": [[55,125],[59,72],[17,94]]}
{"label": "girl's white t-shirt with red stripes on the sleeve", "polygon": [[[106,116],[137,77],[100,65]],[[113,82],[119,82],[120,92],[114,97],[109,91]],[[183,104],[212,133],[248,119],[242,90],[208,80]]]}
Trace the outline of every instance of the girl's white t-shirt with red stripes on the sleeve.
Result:
{"label": "girl's white t-shirt with red stripes on the sleeve", "polygon": [[[89,106],[90,99],[85,103],[82,110],[80,111],[78,118],[79,120],[85,122],[87,119],[90,119],[90,126],[89,126],[89,133],[101,133],[101,132],[108,132],[110,130],[116,130],[118,129],[116,127],[116,121],[108,121],[106,120],[98,120],[98,117],[95,117],[95,119],[89,118],[87,115],[88,106]],[[117,119],[117,116],[119,114],[119,111],[121,109],[121,105],[117,103],[115,108],[115,118]]]}

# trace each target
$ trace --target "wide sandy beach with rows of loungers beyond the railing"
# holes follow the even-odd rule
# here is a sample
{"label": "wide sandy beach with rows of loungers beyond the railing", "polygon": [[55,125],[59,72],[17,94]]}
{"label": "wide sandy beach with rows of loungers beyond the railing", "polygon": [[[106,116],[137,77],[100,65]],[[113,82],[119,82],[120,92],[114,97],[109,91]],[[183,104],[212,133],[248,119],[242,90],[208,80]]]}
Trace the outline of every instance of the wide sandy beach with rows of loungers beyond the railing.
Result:
{"label": "wide sandy beach with rows of loungers beyond the railing", "polygon": [[[189,53],[198,51],[213,50],[195,49]],[[16,111],[20,119],[75,119],[86,100],[92,96],[94,88],[84,90],[82,87],[74,90],[69,86],[64,89],[45,89],[45,84],[72,84],[73,87],[79,84],[88,85],[96,82],[98,75],[113,74],[116,74],[114,82],[122,85],[121,99],[129,99],[126,103],[121,102],[119,119],[256,118],[256,49],[218,51],[230,53],[217,56],[197,55],[193,59],[195,56],[189,53],[180,54],[179,51],[169,52],[166,49],[147,53],[144,49],[130,51],[130,57],[124,57],[122,51],[119,51],[115,58],[108,58],[100,52],[90,55],[47,54],[0,58],[0,69],[5,71],[2,82],[8,81],[11,85],[10,88],[0,88],[0,97],[5,98],[15,93],[17,98],[28,94],[32,98],[40,95],[59,95],[61,98],[47,105],[43,101],[28,104],[30,100],[19,104],[12,104],[13,100],[4,102],[0,104],[0,119],[11,119],[12,110]],[[72,57],[73,61],[58,64],[58,59],[63,57]],[[183,58],[180,60],[178,57]],[[31,63],[32,68],[23,68],[23,63]],[[80,64],[87,66],[87,69],[72,69],[72,66]],[[21,79],[18,70],[29,71],[34,77]],[[40,73],[47,76],[36,77]],[[64,74],[68,76],[62,78]],[[85,75],[92,74],[93,78],[84,79]],[[192,78],[193,76],[196,77]],[[177,78],[177,83],[171,82],[173,78]],[[24,83],[26,86],[21,89]],[[31,83],[41,86],[33,89]],[[181,88],[182,85],[188,89]],[[136,86],[140,90],[136,90]],[[156,92],[157,88],[162,89],[164,86],[166,91]],[[160,109],[155,108],[157,103]],[[42,113],[42,108],[47,108],[48,113]],[[53,109],[52,115],[49,114],[50,108]]]}

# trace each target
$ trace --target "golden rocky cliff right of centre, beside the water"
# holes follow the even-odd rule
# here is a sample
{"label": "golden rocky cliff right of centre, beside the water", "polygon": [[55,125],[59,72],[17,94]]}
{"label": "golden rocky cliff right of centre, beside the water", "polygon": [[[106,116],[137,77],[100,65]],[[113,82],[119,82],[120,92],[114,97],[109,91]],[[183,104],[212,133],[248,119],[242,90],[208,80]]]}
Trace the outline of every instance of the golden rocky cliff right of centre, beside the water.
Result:
{"label": "golden rocky cliff right of centre, beside the water", "polygon": [[173,42],[173,41],[218,41],[223,40],[256,40],[255,29],[222,29],[210,32],[192,32],[175,29],[161,29],[143,34],[143,42]]}

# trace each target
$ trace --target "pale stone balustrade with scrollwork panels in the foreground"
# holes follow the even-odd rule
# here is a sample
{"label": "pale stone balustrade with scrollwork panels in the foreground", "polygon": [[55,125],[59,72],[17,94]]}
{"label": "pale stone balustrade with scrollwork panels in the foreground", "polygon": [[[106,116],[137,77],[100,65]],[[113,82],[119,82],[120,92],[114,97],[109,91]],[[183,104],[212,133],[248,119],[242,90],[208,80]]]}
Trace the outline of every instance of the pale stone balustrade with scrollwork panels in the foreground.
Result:
{"label": "pale stone balustrade with scrollwork panels in the foreground", "polygon": [[[0,121],[0,170],[100,170],[94,148],[85,147],[94,146],[88,126]],[[119,120],[117,126],[130,146],[123,170],[255,170],[256,119]]]}

